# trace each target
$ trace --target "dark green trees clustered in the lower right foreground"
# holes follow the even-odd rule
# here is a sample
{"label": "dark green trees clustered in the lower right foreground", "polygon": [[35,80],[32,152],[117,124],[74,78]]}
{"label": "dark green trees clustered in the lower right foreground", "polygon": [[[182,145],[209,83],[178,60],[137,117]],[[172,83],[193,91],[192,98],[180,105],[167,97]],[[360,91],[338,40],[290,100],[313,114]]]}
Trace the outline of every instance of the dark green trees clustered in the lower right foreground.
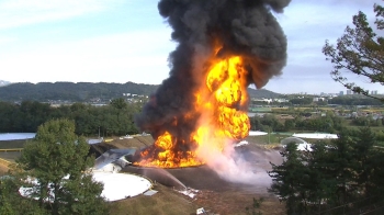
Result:
{"label": "dark green trees clustered in the lower right foreground", "polygon": [[269,172],[270,192],[286,203],[287,214],[354,214],[384,205],[384,151],[374,145],[369,127],[342,129],[338,139],[318,142],[312,150],[289,144],[283,163]]}

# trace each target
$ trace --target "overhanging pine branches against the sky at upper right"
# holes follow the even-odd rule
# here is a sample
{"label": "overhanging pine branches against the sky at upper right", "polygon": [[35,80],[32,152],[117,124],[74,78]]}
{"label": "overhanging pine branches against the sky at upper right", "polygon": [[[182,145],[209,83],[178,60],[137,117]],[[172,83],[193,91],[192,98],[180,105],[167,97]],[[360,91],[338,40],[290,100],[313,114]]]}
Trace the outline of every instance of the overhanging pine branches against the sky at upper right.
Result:
{"label": "overhanging pine branches against the sky at upper right", "polygon": [[[372,83],[384,83],[383,48],[384,37],[381,36],[383,26],[384,8],[374,4],[376,12],[376,32],[370,26],[366,15],[359,12],[353,16],[354,27],[347,26],[345,34],[337,39],[336,47],[327,41],[323,53],[327,60],[334,64],[331,76],[335,81],[340,82],[347,89],[371,98],[380,99],[369,94],[369,91],[354,82],[349,82],[343,72],[350,71],[369,79]],[[380,99],[383,101],[383,99]]]}

